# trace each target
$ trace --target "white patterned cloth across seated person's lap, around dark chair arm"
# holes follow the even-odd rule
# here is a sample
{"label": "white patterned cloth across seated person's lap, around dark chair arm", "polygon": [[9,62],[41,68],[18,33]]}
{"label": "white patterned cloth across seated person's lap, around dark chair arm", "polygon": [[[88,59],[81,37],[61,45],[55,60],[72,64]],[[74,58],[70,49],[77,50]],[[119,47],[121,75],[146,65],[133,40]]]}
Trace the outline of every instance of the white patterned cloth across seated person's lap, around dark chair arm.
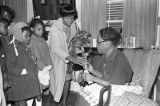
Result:
{"label": "white patterned cloth across seated person's lap, around dark chair arm", "polygon": [[[99,95],[103,86],[92,84],[84,87],[79,91],[79,94],[90,104],[95,106],[99,103]],[[128,86],[128,85],[111,85],[111,100],[116,96],[122,96],[125,92],[132,92],[140,95],[142,93],[141,86]],[[108,92],[104,93],[104,101],[107,100]]]}

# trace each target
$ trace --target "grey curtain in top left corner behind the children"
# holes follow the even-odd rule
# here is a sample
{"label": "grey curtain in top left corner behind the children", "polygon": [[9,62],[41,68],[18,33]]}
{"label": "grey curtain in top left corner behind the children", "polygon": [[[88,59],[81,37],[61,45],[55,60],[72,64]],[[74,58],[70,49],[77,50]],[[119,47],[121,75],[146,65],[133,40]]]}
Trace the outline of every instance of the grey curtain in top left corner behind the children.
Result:
{"label": "grey curtain in top left corner behind the children", "polygon": [[5,0],[6,5],[15,10],[14,21],[27,22],[27,0]]}

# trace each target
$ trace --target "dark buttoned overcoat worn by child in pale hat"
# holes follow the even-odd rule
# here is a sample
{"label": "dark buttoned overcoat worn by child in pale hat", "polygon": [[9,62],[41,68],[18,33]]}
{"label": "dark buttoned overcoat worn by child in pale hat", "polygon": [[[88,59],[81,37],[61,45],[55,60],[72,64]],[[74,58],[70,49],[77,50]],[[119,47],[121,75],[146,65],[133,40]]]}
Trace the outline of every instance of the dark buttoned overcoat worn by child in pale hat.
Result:
{"label": "dark buttoned overcoat worn by child in pale hat", "polygon": [[[20,101],[40,95],[40,85],[36,65],[26,45],[16,42],[18,56],[13,44],[8,46],[6,63],[11,88],[7,90],[8,101]],[[26,69],[27,74],[22,75]]]}

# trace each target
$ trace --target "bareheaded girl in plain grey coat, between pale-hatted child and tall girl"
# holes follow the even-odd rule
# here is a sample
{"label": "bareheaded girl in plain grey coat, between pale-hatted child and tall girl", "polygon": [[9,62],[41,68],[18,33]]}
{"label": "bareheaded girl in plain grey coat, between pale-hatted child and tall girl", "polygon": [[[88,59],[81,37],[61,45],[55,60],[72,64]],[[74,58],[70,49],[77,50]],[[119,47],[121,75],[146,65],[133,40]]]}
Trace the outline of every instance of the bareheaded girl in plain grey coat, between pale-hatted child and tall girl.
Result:
{"label": "bareheaded girl in plain grey coat, between pale-hatted child and tall girl", "polygon": [[[30,27],[33,33],[31,36],[29,48],[31,49],[31,53],[37,62],[38,71],[43,70],[45,66],[52,66],[48,45],[42,38],[45,26],[40,19],[33,19],[30,23]],[[45,96],[49,94],[48,88],[49,86],[41,85],[41,90],[44,91],[43,94]]]}

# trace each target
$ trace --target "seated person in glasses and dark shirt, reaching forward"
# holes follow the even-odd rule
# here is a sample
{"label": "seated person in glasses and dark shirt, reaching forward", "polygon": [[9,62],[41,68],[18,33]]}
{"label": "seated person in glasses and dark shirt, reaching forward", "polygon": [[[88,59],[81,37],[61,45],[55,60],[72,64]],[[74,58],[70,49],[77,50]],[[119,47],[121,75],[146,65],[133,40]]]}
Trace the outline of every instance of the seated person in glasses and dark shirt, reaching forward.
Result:
{"label": "seated person in glasses and dark shirt, reaching forward", "polygon": [[[113,28],[105,27],[99,31],[97,49],[100,55],[91,58],[89,71],[85,74],[86,81],[97,82],[102,85],[129,83],[133,76],[132,68],[126,56],[117,49],[120,34]],[[93,67],[92,67],[93,66]]]}

